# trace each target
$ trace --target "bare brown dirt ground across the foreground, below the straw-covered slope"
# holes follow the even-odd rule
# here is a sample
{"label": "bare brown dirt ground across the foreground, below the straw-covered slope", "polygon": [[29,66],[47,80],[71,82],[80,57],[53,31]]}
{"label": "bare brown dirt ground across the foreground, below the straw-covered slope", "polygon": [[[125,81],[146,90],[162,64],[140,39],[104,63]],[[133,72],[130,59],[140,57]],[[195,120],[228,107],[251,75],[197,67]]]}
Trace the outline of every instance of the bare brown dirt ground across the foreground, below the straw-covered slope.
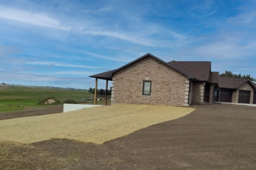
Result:
{"label": "bare brown dirt ground across the foreground, below the straw-covered slope", "polygon": [[256,108],[192,106],[194,112],[104,144],[52,139],[0,142],[0,169],[255,170]]}

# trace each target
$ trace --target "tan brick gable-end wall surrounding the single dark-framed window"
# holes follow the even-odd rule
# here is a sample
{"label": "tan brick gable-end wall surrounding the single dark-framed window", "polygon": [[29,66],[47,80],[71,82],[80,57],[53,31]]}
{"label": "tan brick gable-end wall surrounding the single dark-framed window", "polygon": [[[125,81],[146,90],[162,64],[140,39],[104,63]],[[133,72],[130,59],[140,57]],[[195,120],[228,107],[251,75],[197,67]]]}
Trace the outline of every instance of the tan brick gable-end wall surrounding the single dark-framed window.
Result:
{"label": "tan brick gable-end wall surrounding the single dark-framed window", "polygon": [[[189,79],[152,57],[129,65],[113,77],[112,104],[187,105]],[[151,96],[142,95],[143,80],[152,81]]]}

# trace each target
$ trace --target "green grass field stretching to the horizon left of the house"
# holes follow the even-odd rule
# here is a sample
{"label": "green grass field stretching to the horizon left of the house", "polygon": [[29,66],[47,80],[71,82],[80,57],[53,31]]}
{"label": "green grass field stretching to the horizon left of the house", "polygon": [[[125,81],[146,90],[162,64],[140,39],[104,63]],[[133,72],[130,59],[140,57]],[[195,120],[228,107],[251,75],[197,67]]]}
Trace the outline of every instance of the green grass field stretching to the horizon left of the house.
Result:
{"label": "green grass field stretching to the horizon left of the house", "polygon": [[77,102],[81,102],[83,98],[88,99],[94,95],[87,91],[58,90],[55,88],[19,85],[5,86],[5,88],[0,87],[0,112],[44,107],[46,105],[38,105],[38,102],[49,96],[55,97],[60,102],[63,102],[65,99],[74,99]]}

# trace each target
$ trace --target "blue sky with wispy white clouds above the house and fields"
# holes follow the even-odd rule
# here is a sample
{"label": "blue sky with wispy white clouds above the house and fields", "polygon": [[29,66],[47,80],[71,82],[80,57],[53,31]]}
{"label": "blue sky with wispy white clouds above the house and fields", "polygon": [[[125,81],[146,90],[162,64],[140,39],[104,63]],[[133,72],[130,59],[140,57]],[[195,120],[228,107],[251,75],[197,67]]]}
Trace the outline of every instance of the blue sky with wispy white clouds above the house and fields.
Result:
{"label": "blue sky with wispy white clouds above the house and fields", "polygon": [[94,88],[147,53],[255,78],[256,0],[0,0],[0,82]]}

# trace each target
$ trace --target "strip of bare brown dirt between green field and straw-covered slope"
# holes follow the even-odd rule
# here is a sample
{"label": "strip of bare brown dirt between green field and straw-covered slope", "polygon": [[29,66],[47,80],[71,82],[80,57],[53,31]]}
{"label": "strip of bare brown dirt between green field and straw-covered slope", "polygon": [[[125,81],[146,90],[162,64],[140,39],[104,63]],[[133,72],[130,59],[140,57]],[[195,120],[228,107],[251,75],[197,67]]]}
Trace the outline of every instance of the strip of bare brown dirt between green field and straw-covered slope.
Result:
{"label": "strip of bare brown dirt between green field and straw-covered slope", "polygon": [[49,105],[44,108],[29,109],[24,111],[0,112],[0,120],[13,119],[18,117],[38,116],[63,112],[63,105]]}

